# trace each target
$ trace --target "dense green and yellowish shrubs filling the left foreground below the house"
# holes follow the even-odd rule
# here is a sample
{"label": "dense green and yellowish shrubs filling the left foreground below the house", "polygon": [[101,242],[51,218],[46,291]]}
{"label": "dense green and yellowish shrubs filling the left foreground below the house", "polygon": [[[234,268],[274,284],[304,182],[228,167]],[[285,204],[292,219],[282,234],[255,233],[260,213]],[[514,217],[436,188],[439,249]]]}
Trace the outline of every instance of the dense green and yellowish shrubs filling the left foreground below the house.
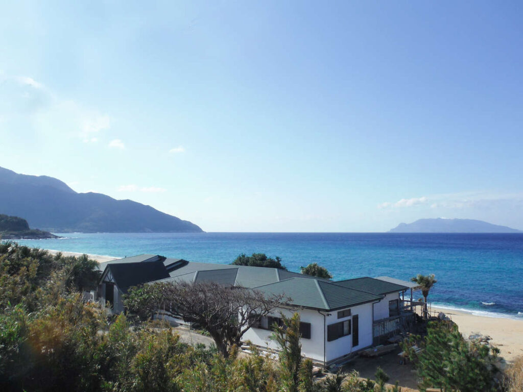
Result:
{"label": "dense green and yellowish shrubs filling the left foreground below the house", "polygon": [[[124,314],[109,317],[85,302],[81,292],[98,279],[86,257],[4,242],[0,266],[3,391],[321,392],[341,377],[314,381],[312,363],[301,355],[298,315],[274,326],[282,345],[278,360],[254,347],[251,355],[238,355],[236,345],[225,356],[181,342],[162,322],[132,324]],[[75,279],[86,270],[90,281]],[[359,388],[373,384],[360,383],[357,374],[341,378],[344,391],[373,390]]]}

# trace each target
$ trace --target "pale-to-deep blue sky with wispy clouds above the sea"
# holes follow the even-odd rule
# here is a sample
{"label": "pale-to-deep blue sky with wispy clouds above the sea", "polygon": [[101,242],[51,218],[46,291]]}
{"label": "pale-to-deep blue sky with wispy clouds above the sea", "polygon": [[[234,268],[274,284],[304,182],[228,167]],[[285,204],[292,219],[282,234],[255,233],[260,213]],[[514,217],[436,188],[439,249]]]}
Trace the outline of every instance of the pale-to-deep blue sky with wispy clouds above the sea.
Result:
{"label": "pale-to-deep blue sky with wispy clouds above the sea", "polygon": [[520,2],[2,2],[0,166],[207,231],[523,229]]}

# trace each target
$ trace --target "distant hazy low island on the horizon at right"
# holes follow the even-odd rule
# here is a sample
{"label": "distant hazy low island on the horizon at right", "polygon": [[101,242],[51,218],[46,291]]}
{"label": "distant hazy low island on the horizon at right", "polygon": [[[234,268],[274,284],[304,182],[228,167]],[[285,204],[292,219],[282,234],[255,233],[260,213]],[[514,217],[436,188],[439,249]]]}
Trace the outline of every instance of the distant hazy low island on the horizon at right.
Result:
{"label": "distant hazy low island on the horizon at right", "polygon": [[523,233],[507,226],[474,219],[429,218],[413,223],[400,223],[389,233]]}

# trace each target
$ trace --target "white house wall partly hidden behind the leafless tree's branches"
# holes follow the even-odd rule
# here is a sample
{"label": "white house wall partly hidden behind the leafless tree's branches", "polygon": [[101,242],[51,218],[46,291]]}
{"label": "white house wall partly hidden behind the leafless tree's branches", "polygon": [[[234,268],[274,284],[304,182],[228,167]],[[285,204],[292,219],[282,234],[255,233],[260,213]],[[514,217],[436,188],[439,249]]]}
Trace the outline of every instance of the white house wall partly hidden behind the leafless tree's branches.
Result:
{"label": "white house wall partly hidden behind the leafless tree's branches", "polygon": [[[272,312],[271,316],[280,317],[280,312],[286,317],[291,317],[295,312],[298,312],[300,314],[300,321],[311,323],[311,338],[301,339],[301,352],[308,358],[317,362],[323,362],[323,315],[312,309],[292,310],[278,308],[275,312]],[[261,347],[278,349],[278,344],[269,338],[271,333],[272,331],[265,329],[250,328],[245,332],[242,340],[250,340]]]}

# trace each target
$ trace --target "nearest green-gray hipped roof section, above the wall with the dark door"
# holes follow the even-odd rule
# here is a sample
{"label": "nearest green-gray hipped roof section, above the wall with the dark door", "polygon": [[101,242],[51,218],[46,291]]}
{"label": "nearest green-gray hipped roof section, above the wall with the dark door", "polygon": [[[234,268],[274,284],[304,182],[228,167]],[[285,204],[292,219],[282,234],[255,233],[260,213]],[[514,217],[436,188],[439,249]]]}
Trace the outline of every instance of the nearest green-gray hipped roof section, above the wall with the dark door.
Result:
{"label": "nearest green-gray hipped roof section, above the wall with the dark door", "polygon": [[335,282],[307,278],[290,278],[254,287],[253,290],[285,295],[290,298],[289,304],[322,310],[343,309],[383,298],[381,295],[348,289]]}

